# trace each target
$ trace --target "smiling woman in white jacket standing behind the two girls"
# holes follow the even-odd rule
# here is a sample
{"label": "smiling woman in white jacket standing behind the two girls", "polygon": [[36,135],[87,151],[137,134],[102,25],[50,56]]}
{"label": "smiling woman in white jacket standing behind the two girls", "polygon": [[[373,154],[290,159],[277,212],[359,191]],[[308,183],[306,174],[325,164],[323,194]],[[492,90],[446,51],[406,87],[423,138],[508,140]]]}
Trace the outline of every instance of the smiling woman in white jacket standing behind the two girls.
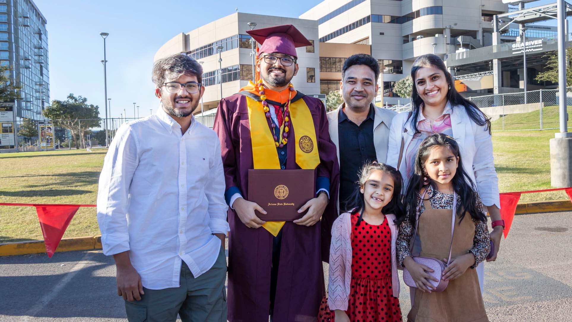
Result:
{"label": "smiling woman in white jacket standing behind the two girls", "polygon": [[[487,261],[494,261],[504,222],[499,211],[501,202],[492,157],[490,120],[455,90],[451,74],[438,56],[427,54],[417,58],[411,67],[411,78],[411,112],[398,114],[391,123],[387,164],[399,169],[407,186],[421,141],[434,133],[454,138],[460,146],[463,166],[475,182],[491,217],[490,239],[494,253]],[[483,263],[477,267],[477,273],[483,291]]]}

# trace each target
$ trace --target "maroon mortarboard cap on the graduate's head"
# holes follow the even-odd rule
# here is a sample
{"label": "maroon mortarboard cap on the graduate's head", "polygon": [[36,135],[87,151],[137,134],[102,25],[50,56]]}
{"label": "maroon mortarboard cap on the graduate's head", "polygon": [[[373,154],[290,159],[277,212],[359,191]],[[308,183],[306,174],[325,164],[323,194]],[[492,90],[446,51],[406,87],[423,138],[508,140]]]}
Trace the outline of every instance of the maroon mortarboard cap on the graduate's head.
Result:
{"label": "maroon mortarboard cap on the graduate's head", "polygon": [[292,25],[280,25],[263,29],[248,30],[247,33],[261,44],[261,53],[281,53],[298,58],[296,47],[312,46],[300,30]]}

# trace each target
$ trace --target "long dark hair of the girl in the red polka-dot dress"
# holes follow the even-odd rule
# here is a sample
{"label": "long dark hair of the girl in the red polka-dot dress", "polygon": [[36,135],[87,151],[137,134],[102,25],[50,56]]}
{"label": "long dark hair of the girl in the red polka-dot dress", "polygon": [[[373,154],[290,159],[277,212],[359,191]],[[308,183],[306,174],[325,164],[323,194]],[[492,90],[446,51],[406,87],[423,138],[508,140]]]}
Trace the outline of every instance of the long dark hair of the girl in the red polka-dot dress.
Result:
{"label": "long dark hair of the girl in the red polka-dot dress", "polygon": [[401,187],[403,185],[403,178],[401,177],[401,173],[399,173],[399,171],[391,165],[380,162],[371,162],[362,167],[359,175],[359,181],[356,182],[359,186],[356,187],[352,195],[348,198],[349,202],[347,204],[347,209],[345,209],[345,212],[352,212],[354,210],[362,209],[358,223],[356,224],[358,226],[363,220],[363,212],[366,208],[366,201],[364,200],[363,193],[360,191],[360,189],[364,186],[364,184],[366,184],[367,178],[370,177],[371,173],[376,170],[390,174],[394,180],[393,196],[391,201],[388,202],[387,205],[383,206],[382,213],[395,214],[396,218],[403,217],[404,209],[403,203],[401,201]]}

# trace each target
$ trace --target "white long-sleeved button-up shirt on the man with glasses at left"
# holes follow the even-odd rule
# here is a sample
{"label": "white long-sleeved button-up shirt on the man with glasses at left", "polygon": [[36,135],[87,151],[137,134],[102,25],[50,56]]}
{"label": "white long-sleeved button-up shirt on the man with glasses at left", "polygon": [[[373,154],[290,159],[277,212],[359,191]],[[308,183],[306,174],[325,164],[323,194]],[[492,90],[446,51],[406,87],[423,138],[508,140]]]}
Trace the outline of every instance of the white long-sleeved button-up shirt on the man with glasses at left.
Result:
{"label": "white long-sleeved button-up shirt on the man with glasses at left", "polygon": [[189,129],[162,108],[122,125],[105,156],[97,221],[105,255],[129,251],[144,287],[178,287],[181,260],[208,271],[226,234],[220,141],[193,117]]}

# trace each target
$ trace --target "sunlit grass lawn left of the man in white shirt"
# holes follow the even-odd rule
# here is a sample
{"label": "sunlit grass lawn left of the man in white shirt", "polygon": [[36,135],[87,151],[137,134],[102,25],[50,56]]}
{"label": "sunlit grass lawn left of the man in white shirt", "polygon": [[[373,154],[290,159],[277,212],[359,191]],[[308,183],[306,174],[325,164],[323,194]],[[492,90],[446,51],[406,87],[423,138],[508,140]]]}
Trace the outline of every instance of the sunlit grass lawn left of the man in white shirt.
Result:
{"label": "sunlit grass lawn left of the man in white shirt", "polygon": [[[106,149],[0,154],[0,200],[37,204],[95,204]],[[93,236],[96,208],[82,207],[63,237]],[[34,207],[0,206],[0,243],[42,240]]]}

